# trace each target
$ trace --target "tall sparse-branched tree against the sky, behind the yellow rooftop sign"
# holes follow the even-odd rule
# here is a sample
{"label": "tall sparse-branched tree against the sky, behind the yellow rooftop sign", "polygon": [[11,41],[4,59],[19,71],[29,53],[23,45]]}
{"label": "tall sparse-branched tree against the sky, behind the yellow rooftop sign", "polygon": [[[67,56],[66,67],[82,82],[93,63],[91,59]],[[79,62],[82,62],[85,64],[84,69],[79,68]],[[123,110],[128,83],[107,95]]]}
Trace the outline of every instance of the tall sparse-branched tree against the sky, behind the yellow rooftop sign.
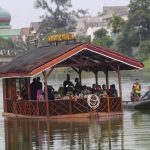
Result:
{"label": "tall sparse-branched tree against the sky, behind the yellow rooftop sign", "polygon": [[41,29],[63,28],[75,25],[75,18],[85,15],[87,10],[71,11],[71,0],[36,0],[35,8],[43,9]]}

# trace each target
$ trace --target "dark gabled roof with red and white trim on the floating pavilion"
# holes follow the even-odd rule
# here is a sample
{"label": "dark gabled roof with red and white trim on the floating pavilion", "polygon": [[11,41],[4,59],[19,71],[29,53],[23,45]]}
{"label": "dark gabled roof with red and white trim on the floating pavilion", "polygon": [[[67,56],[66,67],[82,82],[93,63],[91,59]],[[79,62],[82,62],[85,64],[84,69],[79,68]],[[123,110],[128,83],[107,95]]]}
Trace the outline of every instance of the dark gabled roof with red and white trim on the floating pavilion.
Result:
{"label": "dark gabled roof with red and white trim on the floating pavilion", "polygon": [[108,49],[77,43],[36,48],[0,67],[0,77],[34,76],[51,67],[75,67],[85,71],[142,69],[144,65]]}

